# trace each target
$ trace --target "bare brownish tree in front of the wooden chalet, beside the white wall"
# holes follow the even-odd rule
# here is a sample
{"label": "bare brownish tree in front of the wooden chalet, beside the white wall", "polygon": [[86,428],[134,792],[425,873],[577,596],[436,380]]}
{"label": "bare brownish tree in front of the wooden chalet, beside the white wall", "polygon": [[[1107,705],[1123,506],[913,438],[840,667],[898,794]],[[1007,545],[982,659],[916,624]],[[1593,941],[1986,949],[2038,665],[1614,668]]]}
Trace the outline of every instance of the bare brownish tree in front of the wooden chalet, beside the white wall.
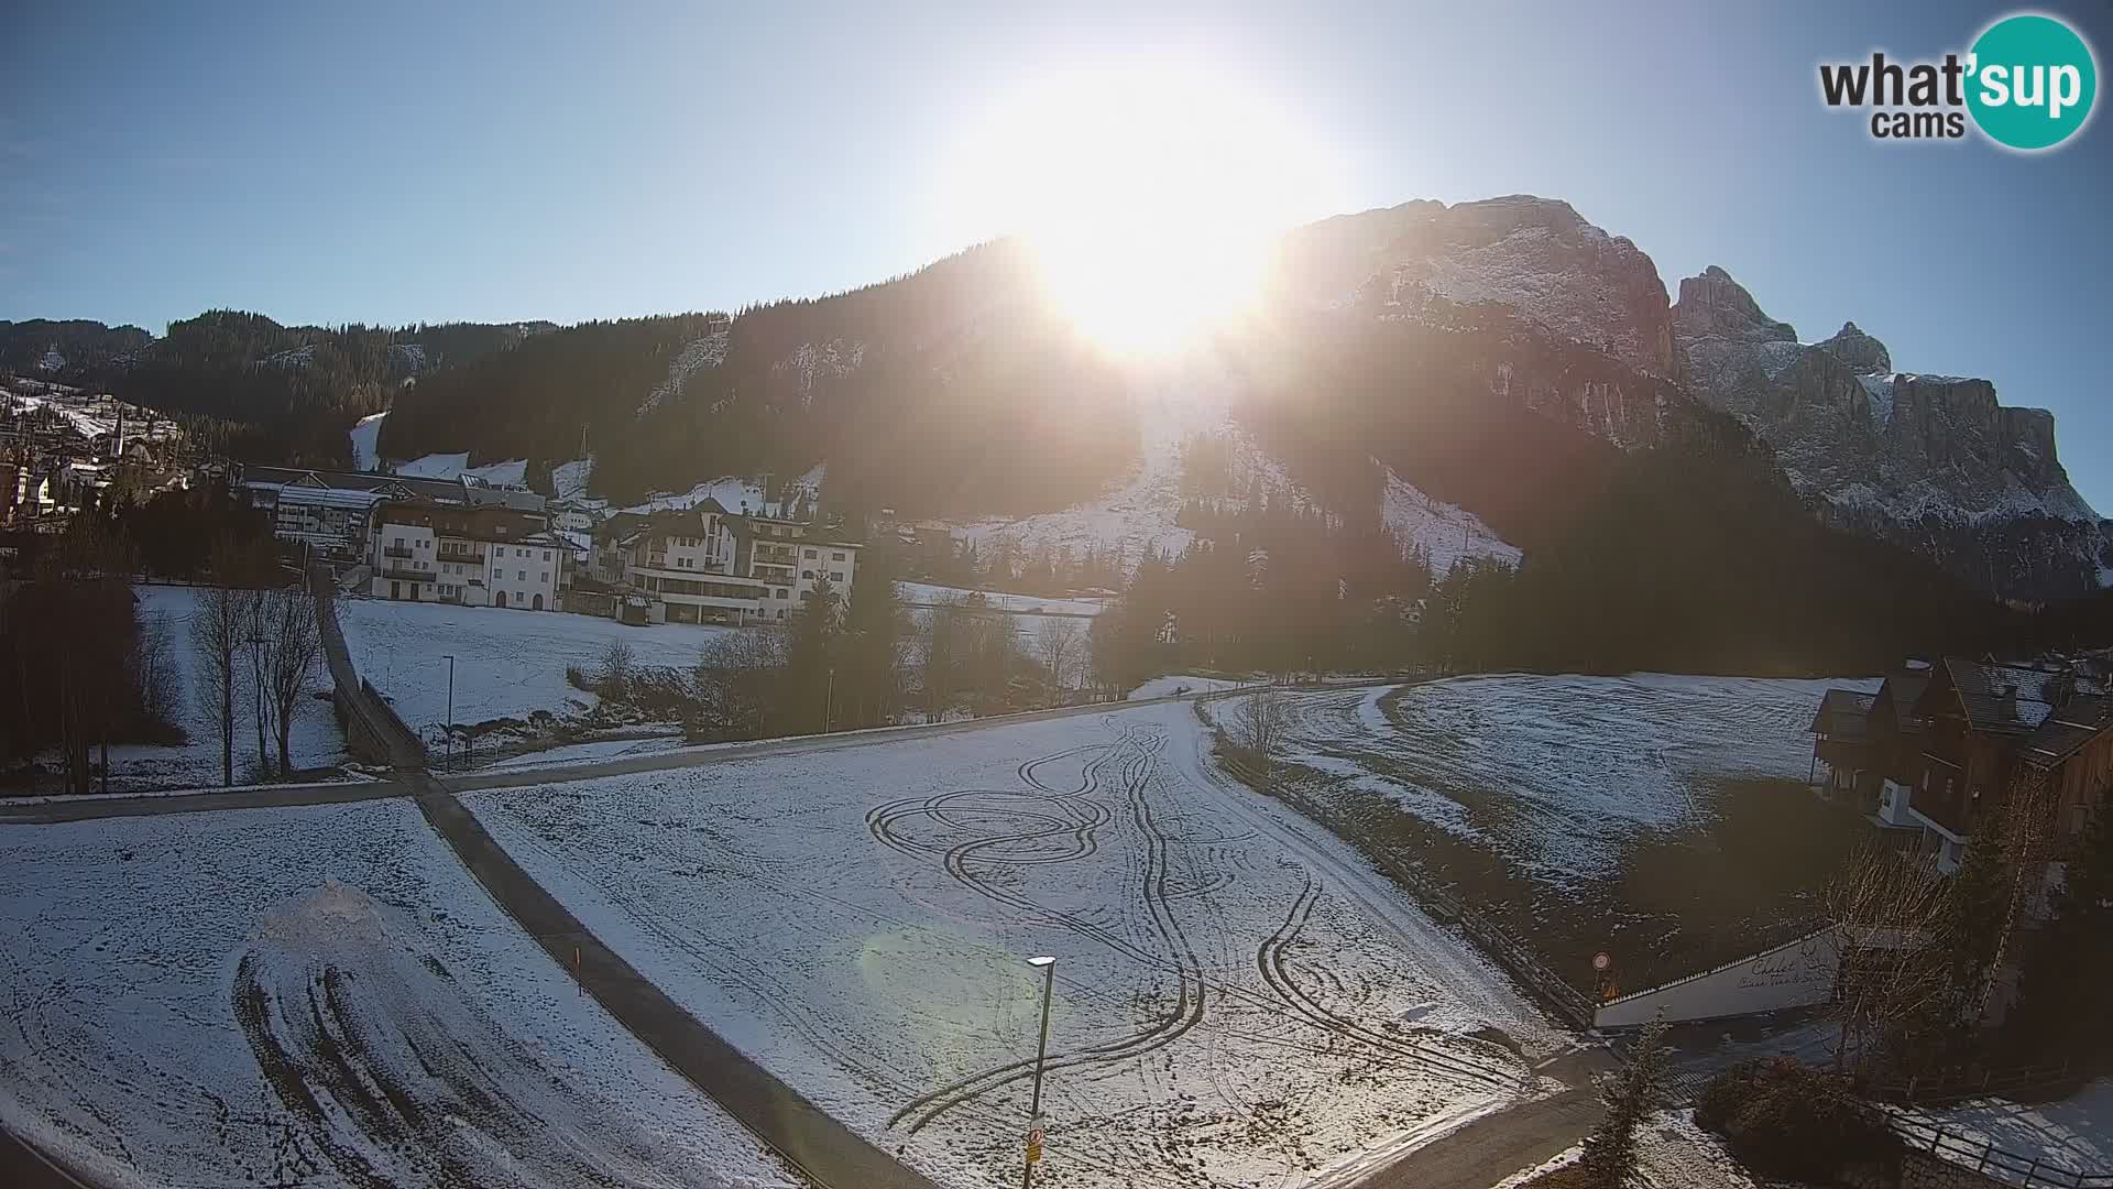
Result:
{"label": "bare brownish tree in front of the wooden chalet, beside the white wall", "polygon": [[1843,965],[1834,1013],[1836,1068],[1881,1056],[1902,1028],[1955,1003],[1948,889],[1919,855],[1885,846],[1857,850],[1826,889]]}

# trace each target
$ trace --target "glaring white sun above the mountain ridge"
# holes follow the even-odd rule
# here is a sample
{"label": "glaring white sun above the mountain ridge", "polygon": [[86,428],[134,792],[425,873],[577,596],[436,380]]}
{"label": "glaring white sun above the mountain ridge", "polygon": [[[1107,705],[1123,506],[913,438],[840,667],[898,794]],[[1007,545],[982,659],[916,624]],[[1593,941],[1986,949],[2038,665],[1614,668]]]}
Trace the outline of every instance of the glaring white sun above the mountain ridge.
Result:
{"label": "glaring white sun above the mountain ridge", "polygon": [[1179,351],[1253,311],[1276,235],[1321,182],[1276,110],[1166,70],[1033,89],[985,142],[970,190],[1025,235],[1056,309],[1122,355]]}

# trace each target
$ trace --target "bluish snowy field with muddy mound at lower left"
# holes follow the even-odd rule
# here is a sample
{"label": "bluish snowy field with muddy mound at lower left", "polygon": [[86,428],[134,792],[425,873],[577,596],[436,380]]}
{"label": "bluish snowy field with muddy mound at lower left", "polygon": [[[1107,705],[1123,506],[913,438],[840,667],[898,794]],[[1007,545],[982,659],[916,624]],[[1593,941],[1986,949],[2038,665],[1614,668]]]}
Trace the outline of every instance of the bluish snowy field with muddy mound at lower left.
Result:
{"label": "bluish snowy field with muddy mound at lower left", "polygon": [[0,827],[0,1117],[99,1185],[794,1185],[408,802]]}

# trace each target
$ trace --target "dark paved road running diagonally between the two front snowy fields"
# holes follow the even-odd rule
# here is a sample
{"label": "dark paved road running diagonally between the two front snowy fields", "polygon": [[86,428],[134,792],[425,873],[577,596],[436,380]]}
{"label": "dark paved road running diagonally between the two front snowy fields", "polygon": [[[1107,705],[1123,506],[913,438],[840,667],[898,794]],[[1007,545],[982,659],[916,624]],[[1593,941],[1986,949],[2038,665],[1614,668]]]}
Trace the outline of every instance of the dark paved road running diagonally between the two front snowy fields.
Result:
{"label": "dark paved road running diagonally between the two front snowy fields", "polygon": [[818,1185],[936,1189],[697,1022],[638,973],[507,855],[463,802],[427,776],[418,808],[478,882],[594,999],[676,1073],[712,1096]]}

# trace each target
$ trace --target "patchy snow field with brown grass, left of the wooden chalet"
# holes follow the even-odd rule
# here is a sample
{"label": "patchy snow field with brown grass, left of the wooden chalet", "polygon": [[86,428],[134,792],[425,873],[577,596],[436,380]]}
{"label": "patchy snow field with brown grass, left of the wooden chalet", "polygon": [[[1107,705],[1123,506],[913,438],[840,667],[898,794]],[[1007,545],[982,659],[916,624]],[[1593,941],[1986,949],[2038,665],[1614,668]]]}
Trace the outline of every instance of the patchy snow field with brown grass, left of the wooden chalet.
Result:
{"label": "patchy snow field with brown grass, left of the wooden chalet", "polygon": [[[1458,677],[1295,692],[1289,791],[1496,914],[1589,990],[1644,988],[1809,922],[1868,834],[1805,781],[1824,690],[1876,681]],[[1232,724],[1240,698],[1204,702]]]}

